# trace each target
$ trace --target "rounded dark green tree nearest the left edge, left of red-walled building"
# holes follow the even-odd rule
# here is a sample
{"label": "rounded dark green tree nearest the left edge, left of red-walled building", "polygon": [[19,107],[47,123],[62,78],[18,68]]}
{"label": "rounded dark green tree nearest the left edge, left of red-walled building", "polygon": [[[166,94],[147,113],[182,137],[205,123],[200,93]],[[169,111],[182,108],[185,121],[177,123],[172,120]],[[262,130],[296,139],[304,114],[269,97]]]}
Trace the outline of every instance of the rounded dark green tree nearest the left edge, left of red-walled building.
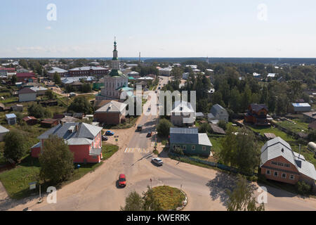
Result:
{"label": "rounded dark green tree nearest the left edge, left of red-walled building", "polygon": [[11,130],[4,136],[4,157],[17,162],[27,153],[27,140],[18,130]]}

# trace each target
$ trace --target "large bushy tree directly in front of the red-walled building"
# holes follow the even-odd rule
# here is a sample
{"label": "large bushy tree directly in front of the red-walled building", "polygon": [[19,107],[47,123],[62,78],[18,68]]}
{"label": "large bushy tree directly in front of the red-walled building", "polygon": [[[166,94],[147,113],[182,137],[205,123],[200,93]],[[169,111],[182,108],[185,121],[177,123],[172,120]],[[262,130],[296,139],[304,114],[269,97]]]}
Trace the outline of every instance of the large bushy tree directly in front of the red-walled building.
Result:
{"label": "large bushy tree directly in front of the red-walled building", "polygon": [[58,136],[50,136],[44,141],[42,153],[39,155],[42,181],[58,184],[72,176],[74,171],[74,155],[65,141]]}

